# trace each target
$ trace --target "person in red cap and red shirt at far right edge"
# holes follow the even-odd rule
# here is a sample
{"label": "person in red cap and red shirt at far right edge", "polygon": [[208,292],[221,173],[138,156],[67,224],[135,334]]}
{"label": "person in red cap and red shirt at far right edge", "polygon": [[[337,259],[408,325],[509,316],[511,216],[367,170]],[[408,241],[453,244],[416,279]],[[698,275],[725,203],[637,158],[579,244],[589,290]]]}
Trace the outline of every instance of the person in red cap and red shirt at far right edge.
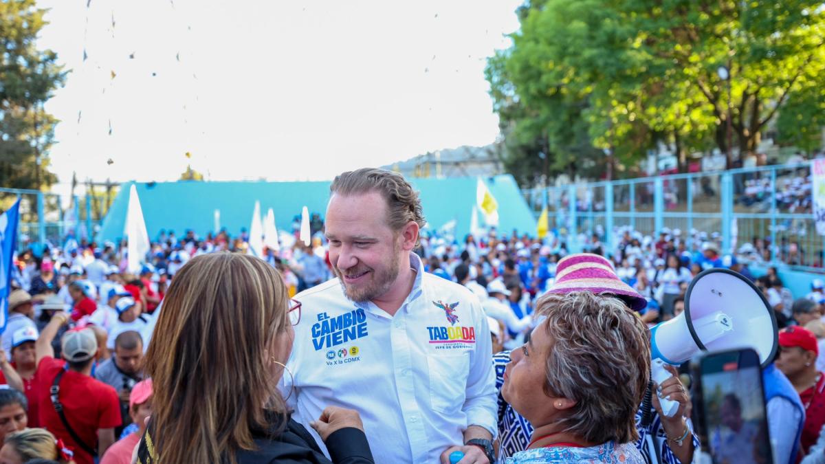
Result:
{"label": "person in red cap and red shirt at far right edge", "polygon": [[810,330],[793,325],[780,330],[779,346],[776,367],[794,384],[805,408],[801,438],[804,456],[817,443],[825,424],[825,376],[817,371],[817,338]]}

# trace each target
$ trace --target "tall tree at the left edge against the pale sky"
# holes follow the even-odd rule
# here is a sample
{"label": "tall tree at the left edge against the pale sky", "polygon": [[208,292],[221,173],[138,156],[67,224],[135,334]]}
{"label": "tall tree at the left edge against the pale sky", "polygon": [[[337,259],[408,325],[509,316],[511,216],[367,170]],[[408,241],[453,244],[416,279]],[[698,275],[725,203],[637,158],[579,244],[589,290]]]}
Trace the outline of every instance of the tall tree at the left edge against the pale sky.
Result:
{"label": "tall tree at the left edge against the pale sky", "polygon": [[37,50],[45,10],[35,0],[0,2],[0,185],[41,189],[57,181],[49,150],[58,120],[43,105],[65,74],[57,54]]}

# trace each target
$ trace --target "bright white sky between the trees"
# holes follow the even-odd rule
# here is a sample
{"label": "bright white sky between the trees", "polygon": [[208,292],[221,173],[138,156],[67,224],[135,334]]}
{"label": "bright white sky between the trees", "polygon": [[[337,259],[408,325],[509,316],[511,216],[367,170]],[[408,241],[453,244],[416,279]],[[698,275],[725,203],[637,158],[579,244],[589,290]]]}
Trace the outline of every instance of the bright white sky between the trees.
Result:
{"label": "bright white sky between the trees", "polygon": [[70,71],[45,105],[65,186],[74,172],[172,181],[187,164],[216,181],[323,180],[492,143],[483,69],[521,0],[37,4],[40,48]]}

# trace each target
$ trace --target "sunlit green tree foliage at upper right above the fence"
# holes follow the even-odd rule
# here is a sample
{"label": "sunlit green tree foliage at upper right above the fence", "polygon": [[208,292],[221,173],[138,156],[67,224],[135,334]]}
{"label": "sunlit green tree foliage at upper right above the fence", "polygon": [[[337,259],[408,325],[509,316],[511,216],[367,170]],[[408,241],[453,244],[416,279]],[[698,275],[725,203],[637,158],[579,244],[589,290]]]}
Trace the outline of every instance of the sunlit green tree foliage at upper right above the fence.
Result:
{"label": "sunlit green tree foliage at upper right above the fence", "polygon": [[[602,149],[609,149],[621,171],[661,141],[676,146],[684,169],[690,151],[728,150],[728,101],[740,152],[757,148],[780,110],[794,113],[782,121],[797,121],[806,127],[799,132],[809,135],[823,117],[823,98],[811,98],[825,83],[820,3],[527,4],[519,10],[521,29],[512,47],[487,67],[505,146],[513,149],[508,156],[524,162],[535,156],[530,147],[546,146],[552,173],[588,160],[604,169]],[[720,66],[729,69],[729,91]],[[790,125],[780,121],[783,128]],[[804,139],[793,130],[784,137]]]}

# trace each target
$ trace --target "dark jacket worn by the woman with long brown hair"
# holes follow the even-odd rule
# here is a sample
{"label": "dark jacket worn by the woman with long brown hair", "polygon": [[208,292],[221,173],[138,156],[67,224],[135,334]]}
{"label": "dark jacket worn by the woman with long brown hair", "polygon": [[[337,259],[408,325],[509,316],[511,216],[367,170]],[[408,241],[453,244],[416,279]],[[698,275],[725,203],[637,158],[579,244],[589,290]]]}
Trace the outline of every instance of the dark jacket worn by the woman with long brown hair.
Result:
{"label": "dark jacket worn by the woman with long brown hair", "polygon": [[[327,438],[327,449],[332,461],[323,452],[312,435],[306,428],[295,422],[291,418],[286,424],[286,428],[275,438],[270,432],[253,430],[252,436],[255,439],[257,450],[241,450],[236,454],[238,464],[259,464],[259,463],[283,463],[283,464],[374,464],[370,444],[366,441],[366,435],[357,428],[342,428],[333,432]],[[149,433],[151,422],[144,437],[140,439],[138,448],[139,464],[157,464],[155,456],[149,456],[148,442],[153,440]],[[272,429],[277,429],[277,422],[272,424]],[[155,440],[156,441],[156,440]]]}

